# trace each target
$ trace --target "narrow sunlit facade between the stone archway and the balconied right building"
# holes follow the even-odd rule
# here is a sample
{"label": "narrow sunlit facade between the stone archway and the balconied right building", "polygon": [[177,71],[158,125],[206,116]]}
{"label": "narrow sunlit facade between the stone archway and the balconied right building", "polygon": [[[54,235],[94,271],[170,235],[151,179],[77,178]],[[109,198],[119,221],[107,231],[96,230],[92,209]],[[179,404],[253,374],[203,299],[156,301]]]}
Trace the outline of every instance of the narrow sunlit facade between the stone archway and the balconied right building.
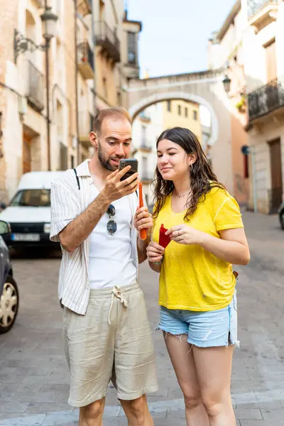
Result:
{"label": "narrow sunlit facade between the stone archway and the balconied right building", "polygon": [[[248,205],[251,198],[249,158],[242,152],[242,147],[249,144],[245,130],[246,114],[246,77],[244,73],[244,30],[246,18],[237,0],[228,16],[212,34],[208,44],[207,62],[209,69],[224,68],[231,80],[228,92],[228,108],[231,114],[231,162],[233,171],[233,194],[239,204]],[[208,147],[210,153],[210,147]],[[214,153],[220,155],[223,153]],[[224,159],[225,160],[225,159]]]}

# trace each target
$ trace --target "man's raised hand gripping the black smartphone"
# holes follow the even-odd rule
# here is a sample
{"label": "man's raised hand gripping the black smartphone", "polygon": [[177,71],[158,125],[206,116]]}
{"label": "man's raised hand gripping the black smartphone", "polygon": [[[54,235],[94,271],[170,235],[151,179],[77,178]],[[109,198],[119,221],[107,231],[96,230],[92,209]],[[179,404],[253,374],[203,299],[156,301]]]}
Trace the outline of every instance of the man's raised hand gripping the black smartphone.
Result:
{"label": "man's raised hand gripping the black smartphone", "polygon": [[129,173],[131,165],[127,165],[122,170],[115,170],[107,177],[107,182],[102,190],[102,195],[106,197],[109,204],[115,200],[119,200],[126,195],[132,194],[138,189],[138,173],[133,173],[129,178],[121,180],[121,178]]}

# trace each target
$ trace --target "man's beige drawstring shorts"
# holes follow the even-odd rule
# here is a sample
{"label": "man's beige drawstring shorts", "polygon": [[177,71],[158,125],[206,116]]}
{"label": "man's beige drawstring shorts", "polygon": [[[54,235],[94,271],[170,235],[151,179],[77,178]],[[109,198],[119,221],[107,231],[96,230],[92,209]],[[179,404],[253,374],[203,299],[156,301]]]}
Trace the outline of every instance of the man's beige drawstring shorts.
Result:
{"label": "man's beige drawstring shorts", "polygon": [[104,398],[109,381],[121,400],[158,391],[153,339],[138,284],[91,290],[86,315],[64,307],[63,339],[73,407]]}

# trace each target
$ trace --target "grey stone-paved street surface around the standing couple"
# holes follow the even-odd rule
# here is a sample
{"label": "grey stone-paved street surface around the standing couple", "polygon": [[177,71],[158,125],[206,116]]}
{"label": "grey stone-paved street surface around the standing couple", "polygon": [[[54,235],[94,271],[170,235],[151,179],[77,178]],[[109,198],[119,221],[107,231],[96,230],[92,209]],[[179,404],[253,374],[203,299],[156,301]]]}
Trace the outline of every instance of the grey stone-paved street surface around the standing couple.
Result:
{"label": "grey stone-paved street surface around the standing couple", "polygon": [[[251,263],[239,271],[239,339],[232,395],[238,426],[284,425],[284,232],[278,218],[244,213]],[[77,425],[67,405],[68,372],[57,299],[60,257],[13,258],[20,290],[15,327],[0,337],[0,425]],[[141,267],[151,326],[158,322],[158,275]],[[185,425],[182,393],[160,332],[154,333],[160,391],[148,402],[157,426]],[[113,388],[104,426],[126,425]],[[202,425],[200,425],[202,426]]]}

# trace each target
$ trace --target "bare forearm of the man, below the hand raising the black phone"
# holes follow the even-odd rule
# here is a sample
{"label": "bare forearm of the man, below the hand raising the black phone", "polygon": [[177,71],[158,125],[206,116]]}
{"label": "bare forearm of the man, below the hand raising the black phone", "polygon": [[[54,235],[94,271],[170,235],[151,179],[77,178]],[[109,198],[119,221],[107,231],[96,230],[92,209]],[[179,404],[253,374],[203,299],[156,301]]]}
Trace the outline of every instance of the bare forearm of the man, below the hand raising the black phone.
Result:
{"label": "bare forearm of the man, below the hand raising the black phone", "polygon": [[94,227],[107,211],[109,201],[103,192],[89,204],[89,207],[77,216],[60,234],[60,243],[63,249],[72,252],[91,234]]}

